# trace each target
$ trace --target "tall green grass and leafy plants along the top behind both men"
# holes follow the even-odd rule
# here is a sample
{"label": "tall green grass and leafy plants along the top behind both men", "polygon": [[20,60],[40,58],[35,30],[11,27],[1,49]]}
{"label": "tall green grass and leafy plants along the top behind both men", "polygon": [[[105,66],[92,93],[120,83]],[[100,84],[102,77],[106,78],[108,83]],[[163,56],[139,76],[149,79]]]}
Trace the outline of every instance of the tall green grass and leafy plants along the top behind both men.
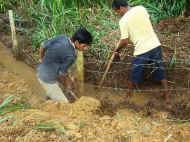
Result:
{"label": "tall green grass and leafy plants along the top behind both men", "polygon": [[[110,51],[101,39],[118,28],[110,8],[112,0],[0,0],[0,12],[12,8],[16,11],[17,22],[26,24],[18,27],[38,48],[43,40],[65,33],[69,36],[79,26],[87,27],[93,34],[94,45],[90,53],[106,58]],[[178,16],[185,10],[187,0],[129,0],[130,5],[144,5],[153,22],[167,17]],[[97,49],[101,52],[97,53]]]}

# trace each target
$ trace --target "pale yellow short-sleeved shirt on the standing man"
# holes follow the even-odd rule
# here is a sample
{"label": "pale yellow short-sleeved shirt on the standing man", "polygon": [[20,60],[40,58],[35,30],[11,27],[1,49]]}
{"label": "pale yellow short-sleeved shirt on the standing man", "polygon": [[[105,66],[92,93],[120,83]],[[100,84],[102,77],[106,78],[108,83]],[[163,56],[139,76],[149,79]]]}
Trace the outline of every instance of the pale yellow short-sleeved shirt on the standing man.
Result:
{"label": "pale yellow short-sleeved shirt on the standing man", "polygon": [[135,6],[127,11],[119,21],[119,26],[121,39],[128,38],[135,45],[134,56],[161,45],[143,6]]}

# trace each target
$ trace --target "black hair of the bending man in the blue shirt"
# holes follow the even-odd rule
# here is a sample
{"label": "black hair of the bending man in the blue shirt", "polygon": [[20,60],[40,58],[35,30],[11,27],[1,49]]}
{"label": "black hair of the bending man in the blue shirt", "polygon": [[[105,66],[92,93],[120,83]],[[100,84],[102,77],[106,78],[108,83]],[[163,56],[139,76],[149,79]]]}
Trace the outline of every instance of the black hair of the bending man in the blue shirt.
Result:
{"label": "black hair of the bending man in the blue shirt", "polygon": [[86,28],[79,28],[74,35],[72,36],[72,40],[75,42],[78,40],[79,43],[91,44],[92,43],[92,35]]}

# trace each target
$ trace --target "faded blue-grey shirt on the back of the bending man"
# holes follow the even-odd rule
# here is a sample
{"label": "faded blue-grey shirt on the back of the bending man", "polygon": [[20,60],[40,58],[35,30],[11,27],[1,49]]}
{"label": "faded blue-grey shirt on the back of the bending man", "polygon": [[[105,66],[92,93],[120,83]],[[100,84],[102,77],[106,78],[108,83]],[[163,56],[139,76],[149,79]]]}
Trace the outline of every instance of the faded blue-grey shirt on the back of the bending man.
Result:
{"label": "faded blue-grey shirt on the back of the bending man", "polygon": [[75,61],[76,53],[70,39],[60,35],[42,43],[46,49],[42,64],[38,67],[38,77],[48,83],[54,83],[59,73],[66,73]]}

